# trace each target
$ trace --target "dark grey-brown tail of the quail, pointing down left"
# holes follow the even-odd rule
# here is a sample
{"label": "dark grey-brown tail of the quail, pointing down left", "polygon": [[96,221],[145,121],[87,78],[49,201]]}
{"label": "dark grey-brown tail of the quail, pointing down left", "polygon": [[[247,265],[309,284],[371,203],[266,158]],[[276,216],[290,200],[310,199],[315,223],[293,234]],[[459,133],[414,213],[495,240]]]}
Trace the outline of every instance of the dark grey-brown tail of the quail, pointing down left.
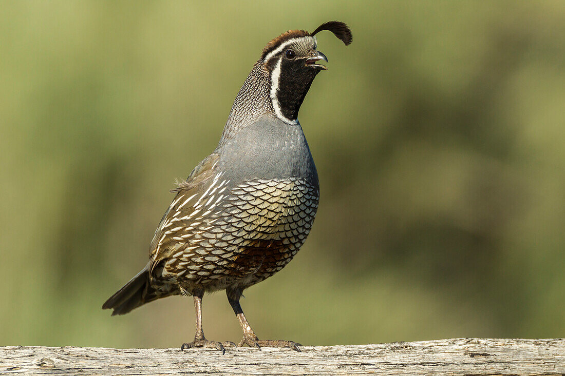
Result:
{"label": "dark grey-brown tail of the quail, pointing down left", "polygon": [[102,309],[114,309],[112,316],[115,316],[116,314],[128,313],[132,311],[132,309],[147,303],[144,299],[144,292],[146,290],[148,277],[149,265],[145,266],[145,268],[130,279],[124,287],[110,296],[110,299],[106,300],[106,303],[102,305]]}

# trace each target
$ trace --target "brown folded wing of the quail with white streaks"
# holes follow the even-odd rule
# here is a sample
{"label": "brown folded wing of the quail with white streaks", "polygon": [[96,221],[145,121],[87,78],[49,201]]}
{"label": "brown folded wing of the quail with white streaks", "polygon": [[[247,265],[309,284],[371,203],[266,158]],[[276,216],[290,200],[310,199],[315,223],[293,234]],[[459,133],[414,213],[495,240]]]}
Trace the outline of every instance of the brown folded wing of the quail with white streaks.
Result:
{"label": "brown folded wing of the quail with white streaks", "polygon": [[184,239],[175,237],[174,233],[180,230],[179,226],[184,225],[197,210],[195,207],[198,206],[198,200],[206,195],[206,191],[215,181],[215,170],[219,159],[218,154],[210,154],[192,170],[186,181],[178,183],[178,186],[171,191],[176,192],[175,199],[163,215],[151,241],[150,272],[160,260],[169,257],[182,245]]}

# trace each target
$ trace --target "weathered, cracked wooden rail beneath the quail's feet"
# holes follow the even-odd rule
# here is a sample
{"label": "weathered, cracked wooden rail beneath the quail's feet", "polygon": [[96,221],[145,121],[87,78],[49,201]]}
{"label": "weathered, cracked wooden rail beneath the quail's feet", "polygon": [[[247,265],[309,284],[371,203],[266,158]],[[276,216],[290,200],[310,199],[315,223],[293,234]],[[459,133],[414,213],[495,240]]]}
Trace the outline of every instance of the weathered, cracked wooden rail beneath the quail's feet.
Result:
{"label": "weathered, cracked wooden rail beneath the quail's feet", "polygon": [[458,338],[360,346],[114,349],[0,347],[9,375],[565,375],[563,339]]}

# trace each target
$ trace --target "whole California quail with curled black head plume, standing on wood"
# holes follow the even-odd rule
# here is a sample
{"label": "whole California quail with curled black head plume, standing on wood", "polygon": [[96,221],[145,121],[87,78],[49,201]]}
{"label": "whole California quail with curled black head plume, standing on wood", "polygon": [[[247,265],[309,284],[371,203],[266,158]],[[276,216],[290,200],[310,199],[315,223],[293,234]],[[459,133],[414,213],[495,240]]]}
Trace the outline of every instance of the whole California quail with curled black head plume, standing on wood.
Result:
{"label": "whole California quail with curled black head plume, standing on wood", "polygon": [[289,30],[264,47],[218,146],[173,190],[149,263],[102,305],[114,309],[112,316],[169,295],[192,295],[196,334],[182,348],[224,353],[222,343],[204,337],[201,304],[205,292],[225,290],[244,333],[238,346],[300,351],[292,341],[259,340],[239,300],[245,288],[288,264],[314,222],[318,174],[297,117],[314,77],[327,69],[317,64],[328,61],[316,50],[321,30],[351,43],[349,27],[330,21],[312,33]]}

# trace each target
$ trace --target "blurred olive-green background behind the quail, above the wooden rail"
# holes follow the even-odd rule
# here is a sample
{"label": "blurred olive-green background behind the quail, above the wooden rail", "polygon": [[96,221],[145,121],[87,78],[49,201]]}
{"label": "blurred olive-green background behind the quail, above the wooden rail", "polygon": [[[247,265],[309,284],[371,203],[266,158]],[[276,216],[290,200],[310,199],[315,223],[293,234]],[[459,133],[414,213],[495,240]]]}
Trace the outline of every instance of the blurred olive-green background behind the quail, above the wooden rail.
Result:
{"label": "blurred olive-green background behind the quail, above the wooden rail", "polygon": [[[0,345],[177,347],[191,299],[110,317],[263,46],[318,36],[318,216],[246,291],[262,339],[565,336],[565,2],[2,2]],[[209,339],[241,338],[223,293]]]}

